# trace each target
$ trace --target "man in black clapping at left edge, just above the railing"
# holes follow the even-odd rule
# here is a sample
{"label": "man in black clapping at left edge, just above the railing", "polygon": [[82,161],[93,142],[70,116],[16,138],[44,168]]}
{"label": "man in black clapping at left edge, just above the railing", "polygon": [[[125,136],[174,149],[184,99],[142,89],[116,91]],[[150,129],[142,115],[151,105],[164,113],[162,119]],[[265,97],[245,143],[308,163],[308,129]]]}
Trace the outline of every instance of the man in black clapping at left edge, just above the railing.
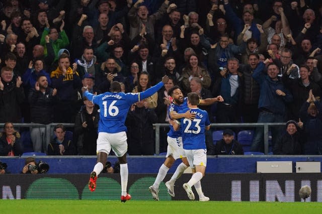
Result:
{"label": "man in black clapping at left edge, just above the railing", "polygon": [[10,67],[1,69],[0,79],[0,122],[21,122],[21,103],[25,99],[21,78],[13,79],[14,72]]}

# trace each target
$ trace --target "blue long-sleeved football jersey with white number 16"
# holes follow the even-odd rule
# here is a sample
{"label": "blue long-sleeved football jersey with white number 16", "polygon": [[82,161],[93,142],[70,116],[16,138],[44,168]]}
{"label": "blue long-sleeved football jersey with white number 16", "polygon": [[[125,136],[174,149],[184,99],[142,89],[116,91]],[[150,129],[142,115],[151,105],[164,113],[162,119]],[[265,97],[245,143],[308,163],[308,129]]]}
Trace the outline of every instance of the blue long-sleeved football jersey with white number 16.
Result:
{"label": "blue long-sleeved football jersey with white number 16", "polygon": [[92,100],[94,104],[100,106],[100,121],[98,132],[119,133],[127,131],[125,119],[130,106],[142,99],[145,99],[157,90],[162,88],[163,82],[159,82],[153,87],[140,93],[105,92],[94,95],[88,91],[84,95]]}

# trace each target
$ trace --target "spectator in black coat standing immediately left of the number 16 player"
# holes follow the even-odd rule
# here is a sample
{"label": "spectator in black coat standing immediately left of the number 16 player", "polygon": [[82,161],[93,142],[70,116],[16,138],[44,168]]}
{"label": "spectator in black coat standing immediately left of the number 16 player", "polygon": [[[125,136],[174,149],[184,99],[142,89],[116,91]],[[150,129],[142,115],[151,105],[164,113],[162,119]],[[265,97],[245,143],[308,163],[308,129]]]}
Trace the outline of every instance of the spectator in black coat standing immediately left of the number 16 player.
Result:
{"label": "spectator in black coat standing immediately left of the number 16 player", "polygon": [[96,155],[96,140],[100,113],[92,101],[84,97],[84,105],[75,119],[74,136],[78,155]]}

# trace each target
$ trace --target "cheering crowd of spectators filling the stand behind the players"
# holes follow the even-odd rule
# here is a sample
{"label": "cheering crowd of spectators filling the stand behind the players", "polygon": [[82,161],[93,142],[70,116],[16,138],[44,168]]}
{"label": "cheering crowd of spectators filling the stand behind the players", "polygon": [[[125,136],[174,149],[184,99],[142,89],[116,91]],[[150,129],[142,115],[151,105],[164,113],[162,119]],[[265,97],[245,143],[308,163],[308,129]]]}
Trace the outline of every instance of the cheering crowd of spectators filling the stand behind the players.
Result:
{"label": "cheering crowd of spectators filling the stand behind the players", "polygon": [[[167,91],[174,85],[201,98],[222,95],[222,103],[205,107],[211,122],[300,120],[303,126],[295,129],[303,134],[294,154],[322,154],[320,1],[0,3],[0,123],[75,123],[72,141],[62,136],[64,127],[55,127],[49,145],[44,129],[31,129],[35,152],[96,154],[99,110],[83,98],[82,86],[99,94],[119,81],[124,92],[140,92],[168,75],[164,89],[131,107],[130,155],[154,154],[152,124],[168,123]],[[1,154],[19,155],[19,137],[4,137],[9,129]],[[160,130],[161,152],[167,131]],[[283,142],[282,131],[272,130],[273,144]],[[212,144],[211,132],[206,136]],[[290,154],[280,148],[276,154]],[[251,151],[263,150],[258,128]]]}

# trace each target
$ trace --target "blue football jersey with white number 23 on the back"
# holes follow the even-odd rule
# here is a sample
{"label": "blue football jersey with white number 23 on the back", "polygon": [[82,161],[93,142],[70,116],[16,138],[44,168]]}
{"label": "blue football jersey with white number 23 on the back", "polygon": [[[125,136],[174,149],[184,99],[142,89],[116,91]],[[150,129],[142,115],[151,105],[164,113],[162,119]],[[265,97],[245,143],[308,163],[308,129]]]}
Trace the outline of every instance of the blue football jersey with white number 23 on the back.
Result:
{"label": "blue football jersey with white number 23 on the back", "polygon": [[[185,113],[188,110],[181,110],[178,113]],[[196,114],[194,120],[180,119],[183,148],[187,150],[207,149],[205,127],[210,125],[208,113],[199,108],[190,109],[190,112]]]}

